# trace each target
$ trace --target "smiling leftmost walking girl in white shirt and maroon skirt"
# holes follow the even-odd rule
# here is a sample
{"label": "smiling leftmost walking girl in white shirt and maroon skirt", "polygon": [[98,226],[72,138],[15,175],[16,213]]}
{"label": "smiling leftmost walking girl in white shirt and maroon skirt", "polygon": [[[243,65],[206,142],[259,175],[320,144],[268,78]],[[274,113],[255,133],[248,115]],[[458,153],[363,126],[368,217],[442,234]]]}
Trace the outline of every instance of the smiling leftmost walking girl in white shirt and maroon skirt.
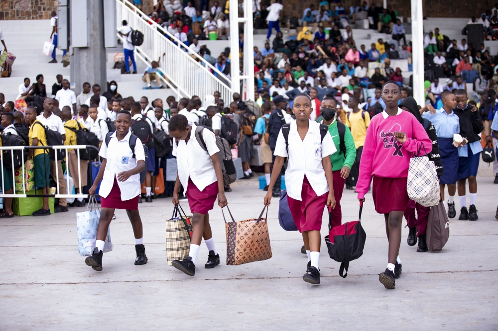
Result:
{"label": "smiling leftmost walking girl in white shirt and maroon skirt", "polygon": [[131,114],[127,110],[120,110],[116,114],[115,123],[116,131],[108,134],[106,142],[100,148],[99,156],[103,161],[88,190],[89,194],[94,195],[102,180],[99,190],[102,209],[96,247],[93,254],[85,259],[85,263],[97,271],[102,271],[102,251],[115,209],[125,209],[131,222],[135,237],[135,265],[147,263],[142,221],[138,213],[139,173],[145,169],[145,154],[140,139],[131,134]]}

